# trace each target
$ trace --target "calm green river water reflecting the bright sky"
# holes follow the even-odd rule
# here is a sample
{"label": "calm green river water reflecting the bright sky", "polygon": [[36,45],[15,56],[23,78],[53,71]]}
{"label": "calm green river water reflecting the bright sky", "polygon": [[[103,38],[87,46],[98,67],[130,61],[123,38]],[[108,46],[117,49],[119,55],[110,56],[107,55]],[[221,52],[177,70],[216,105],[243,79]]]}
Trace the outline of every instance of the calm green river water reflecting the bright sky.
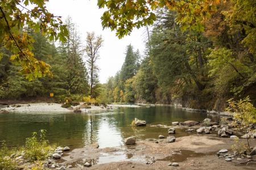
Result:
{"label": "calm green river water reflecting the bright sky", "polygon": [[[0,141],[5,140],[10,147],[22,146],[25,138],[40,129],[47,130],[50,143],[72,148],[95,142],[100,147],[119,146],[131,135],[138,140],[168,135],[166,128],[130,126],[135,117],[146,120],[147,125],[171,125],[173,121],[202,121],[209,115],[174,107],[118,108],[101,113],[2,113]],[[187,135],[184,129],[177,130],[175,137],[183,135]]]}

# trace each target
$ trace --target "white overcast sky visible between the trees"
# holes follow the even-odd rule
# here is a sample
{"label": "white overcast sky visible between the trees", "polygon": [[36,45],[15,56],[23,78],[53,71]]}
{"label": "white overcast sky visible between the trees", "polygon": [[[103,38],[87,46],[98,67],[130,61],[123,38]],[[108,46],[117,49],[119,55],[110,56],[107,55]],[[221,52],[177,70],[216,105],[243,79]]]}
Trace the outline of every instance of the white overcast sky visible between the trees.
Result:
{"label": "white overcast sky visible between the trees", "polygon": [[78,26],[84,45],[86,32],[94,31],[96,35],[102,35],[104,44],[97,61],[101,83],[106,83],[109,76],[114,76],[121,69],[127,45],[133,45],[134,50],[139,49],[141,54],[144,52],[145,29],[134,28],[130,36],[121,40],[109,28],[103,30],[100,18],[105,10],[98,8],[97,0],[49,0],[47,9],[54,15],[62,16],[63,21],[71,16]]}

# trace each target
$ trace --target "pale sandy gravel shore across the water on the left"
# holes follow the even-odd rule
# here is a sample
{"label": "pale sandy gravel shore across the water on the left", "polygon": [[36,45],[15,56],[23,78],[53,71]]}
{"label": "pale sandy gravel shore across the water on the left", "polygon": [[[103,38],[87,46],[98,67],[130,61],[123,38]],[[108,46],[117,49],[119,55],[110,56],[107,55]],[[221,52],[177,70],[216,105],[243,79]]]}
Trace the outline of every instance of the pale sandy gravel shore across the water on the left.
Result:
{"label": "pale sandy gravel shore across the water on the left", "polygon": [[[81,103],[82,104],[82,103]],[[80,107],[77,105],[73,107],[74,109]],[[104,111],[106,108],[101,108],[97,106],[91,106],[90,109],[81,109],[82,112],[89,111]],[[58,103],[27,103],[27,104],[15,104],[9,105],[9,107],[2,108],[1,111],[7,112],[73,112],[73,110],[62,108],[61,104]]]}

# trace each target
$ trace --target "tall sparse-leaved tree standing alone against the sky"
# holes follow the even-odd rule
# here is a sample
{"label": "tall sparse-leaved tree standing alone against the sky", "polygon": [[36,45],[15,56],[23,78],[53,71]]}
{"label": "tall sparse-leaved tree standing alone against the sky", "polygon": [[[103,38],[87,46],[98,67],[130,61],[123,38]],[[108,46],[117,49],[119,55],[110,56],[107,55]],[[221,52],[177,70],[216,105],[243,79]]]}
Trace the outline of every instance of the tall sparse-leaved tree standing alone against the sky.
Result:
{"label": "tall sparse-leaved tree standing alone against the sky", "polygon": [[103,39],[101,36],[95,36],[95,33],[87,32],[86,36],[86,62],[88,62],[89,73],[90,73],[90,96],[92,98],[96,97],[95,91],[98,84],[98,67],[96,65],[97,59],[100,57],[98,50],[103,44]]}

